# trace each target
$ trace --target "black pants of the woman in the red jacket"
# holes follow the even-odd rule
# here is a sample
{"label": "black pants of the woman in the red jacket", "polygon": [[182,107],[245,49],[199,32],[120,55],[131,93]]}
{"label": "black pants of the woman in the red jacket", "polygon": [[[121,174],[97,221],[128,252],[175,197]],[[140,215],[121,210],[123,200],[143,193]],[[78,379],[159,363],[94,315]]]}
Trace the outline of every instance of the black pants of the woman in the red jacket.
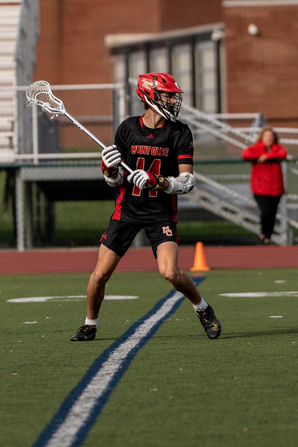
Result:
{"label": "black pants of the woman in the red jacket", "polygon": [[265,235],[265,238],[270,239],[273,232],[275,216],[281,196],[273,197],[255,194],[255,199],[257,204],[259,205],[261,212],[262,234]]}

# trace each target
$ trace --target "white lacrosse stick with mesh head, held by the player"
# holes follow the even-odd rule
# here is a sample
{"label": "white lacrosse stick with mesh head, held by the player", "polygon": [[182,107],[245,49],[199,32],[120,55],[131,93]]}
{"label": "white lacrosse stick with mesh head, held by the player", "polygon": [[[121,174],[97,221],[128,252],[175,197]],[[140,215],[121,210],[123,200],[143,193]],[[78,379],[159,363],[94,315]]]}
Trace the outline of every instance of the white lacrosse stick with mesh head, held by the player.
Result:
{"label": "white lacrosse stick with mesh head, held by the player", "polygon": [[[24,107],[28,107],[30,104],[40,105],[43,112],[53,114],[54,116],[58,116],[58,114],[66,116],[70,119],[77,127],[79,127],[85,134],[87,134],[90,138],[92,138],[95,143],[97,143],[101,148],[105,149],[106,146],[99,139],[96,138],[86,127],[84,127],[79,121],[77,121],[73,116],[71,116],[65,109],[63,102],[61,99],[56,98],[50,88],[50,84],[46,81],[36,81],[33,84],[30,84],[26,89],[26,97],[28,101],[24,105]],[[130,174],[133,172],[129,166],[127,166],[124,161],[121,161],[122,168],[126,169]]]}

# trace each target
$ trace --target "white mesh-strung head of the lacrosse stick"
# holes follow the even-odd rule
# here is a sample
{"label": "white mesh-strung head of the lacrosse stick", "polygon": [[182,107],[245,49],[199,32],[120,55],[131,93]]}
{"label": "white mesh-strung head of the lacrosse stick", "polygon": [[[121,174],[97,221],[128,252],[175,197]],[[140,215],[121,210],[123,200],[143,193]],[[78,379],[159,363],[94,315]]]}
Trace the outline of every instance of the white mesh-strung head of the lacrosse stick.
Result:
{"label": "white mesh-strung head of the lacrosse stick", "polygon": [[36,81],[30,84],[26,89],[26,97],[28,101],[24,107],[30,104],[40,105],[43,112],[51,114],[63,115],[66,111],[63,102],[53,95],[50,84],[46,81]]}

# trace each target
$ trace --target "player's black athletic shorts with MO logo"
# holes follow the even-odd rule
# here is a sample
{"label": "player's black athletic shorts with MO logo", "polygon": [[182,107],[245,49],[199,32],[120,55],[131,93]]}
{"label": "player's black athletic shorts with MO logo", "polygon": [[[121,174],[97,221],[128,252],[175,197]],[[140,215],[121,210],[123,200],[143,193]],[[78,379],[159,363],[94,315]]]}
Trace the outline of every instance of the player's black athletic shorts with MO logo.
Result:
{"label": "player's black athletic shorts with MO logo", "polygon": [[144,228],[149,239],[155,259],[157,258],[156,253],[159,244],[171,240],[179,245],[177,226],[172,220],[163,220],[159,223],[144,225],[142,223],[127,223],[111,219],[108,228],[102,233],[100,242],[114,253],[123,256],[142,228]]}

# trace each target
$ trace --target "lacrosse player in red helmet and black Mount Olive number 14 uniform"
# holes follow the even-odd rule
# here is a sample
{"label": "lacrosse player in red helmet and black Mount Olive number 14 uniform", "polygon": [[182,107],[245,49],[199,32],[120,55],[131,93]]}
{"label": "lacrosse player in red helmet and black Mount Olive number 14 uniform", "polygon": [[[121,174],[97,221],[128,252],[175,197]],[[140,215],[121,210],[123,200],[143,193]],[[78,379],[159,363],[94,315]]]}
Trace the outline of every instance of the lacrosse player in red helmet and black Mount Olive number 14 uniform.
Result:
{"label": "lacrosse player in red helmet and black Mount Olive number 14 uniform", "polygon": [[[195,185],[192,134],[176,119],[181,93],[171,75],[140,75],[137,94],[146,112],[123,121],[115,144],[102,151],[105,181],[116,190],[115,211],[101,236],[97,266],[88,283],[85,324],[71,341],[94,340],[105,284],[142,228],[160,274],[191,301],[207,336],[220,335],[221,325],[213,308],[177,266],[177,194],[188,194]],[[135,170],[127,175],[119,166],[121,160]]]}

